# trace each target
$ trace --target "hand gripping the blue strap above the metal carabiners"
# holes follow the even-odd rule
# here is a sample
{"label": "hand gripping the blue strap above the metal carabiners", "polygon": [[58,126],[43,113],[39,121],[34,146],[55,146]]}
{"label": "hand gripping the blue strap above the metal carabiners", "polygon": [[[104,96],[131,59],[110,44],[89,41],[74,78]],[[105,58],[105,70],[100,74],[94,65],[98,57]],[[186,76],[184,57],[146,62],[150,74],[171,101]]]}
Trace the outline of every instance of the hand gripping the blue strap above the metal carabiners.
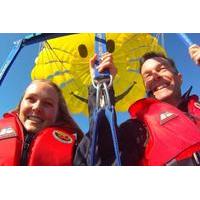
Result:
{"label": "hand gripping the blue strap above the metal carabiners", "polygon": [[[97,55],[95,54],[91,59],[90,59],[90,74],[91,77],[94,77],[94,63],[97,59]],[[117,68],[115,67],[113,63],[113,58],[111,53],[105,53],[103,54],[101,58],[101,62],[99,66],[97,67],[97,70],[99,73],[103,72],[104,70],[108,69],[110,74],[113,76],[113,79],[115,75],[117,74]]]}

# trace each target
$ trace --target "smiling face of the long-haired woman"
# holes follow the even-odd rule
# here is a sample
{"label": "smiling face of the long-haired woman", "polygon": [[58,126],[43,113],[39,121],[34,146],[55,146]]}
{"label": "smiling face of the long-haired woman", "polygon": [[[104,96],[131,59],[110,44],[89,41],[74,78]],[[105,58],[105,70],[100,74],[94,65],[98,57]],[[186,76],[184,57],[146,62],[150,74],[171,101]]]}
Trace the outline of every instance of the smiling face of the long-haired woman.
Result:
{"label": "smiling face of the long-haired woman", "polygon": [[30,133],[51,126],[58,115],[58,94],[53,86],[35,81],[26,89],[19,109],[19,119]]}

